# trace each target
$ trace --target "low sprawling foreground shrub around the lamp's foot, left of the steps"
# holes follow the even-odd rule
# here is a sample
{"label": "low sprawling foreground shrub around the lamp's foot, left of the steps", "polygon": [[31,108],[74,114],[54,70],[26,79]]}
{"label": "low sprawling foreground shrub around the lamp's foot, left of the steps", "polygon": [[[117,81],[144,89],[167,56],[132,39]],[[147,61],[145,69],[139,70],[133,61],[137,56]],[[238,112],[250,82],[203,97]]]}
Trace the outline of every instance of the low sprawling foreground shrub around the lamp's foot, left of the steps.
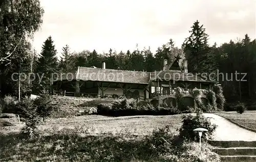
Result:
{"label": "low sprawling foreground shrub around the lamp's foot, left of the steps", "polygon": [[160,161],[220,162],[220,156],[212,151],[210,145],[203,143],[200,150],[198,143],[182,142],[179,131],[171,131],[169,126],[155,129],[142,143],[145,143],[147,153],[158,155]]}

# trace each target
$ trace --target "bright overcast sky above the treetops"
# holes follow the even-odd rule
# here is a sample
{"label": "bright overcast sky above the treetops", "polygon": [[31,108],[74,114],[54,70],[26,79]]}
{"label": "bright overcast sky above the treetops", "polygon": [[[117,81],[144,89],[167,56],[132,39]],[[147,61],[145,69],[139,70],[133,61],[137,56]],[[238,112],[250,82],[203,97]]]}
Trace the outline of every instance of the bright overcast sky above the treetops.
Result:
{"label": "bright overcast sky above the treetops", "polygon": [[71,51],[134,50],[151,47],[153,53],[170,38],[180,47],[197,19],[206,28],[209,42],[255,38],[254,0],[222,1],[118,1],[41,0],[45,10],[41,29],[35,33],[37,52],[52,36],[58,53],[65,44]]}

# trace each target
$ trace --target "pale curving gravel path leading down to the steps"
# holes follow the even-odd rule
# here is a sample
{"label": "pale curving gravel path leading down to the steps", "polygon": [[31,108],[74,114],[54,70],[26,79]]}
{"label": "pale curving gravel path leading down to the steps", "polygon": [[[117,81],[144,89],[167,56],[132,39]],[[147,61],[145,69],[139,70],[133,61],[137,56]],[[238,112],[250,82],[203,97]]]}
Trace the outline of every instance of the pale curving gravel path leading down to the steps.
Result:
{"label": "pale curving gravel path leading down to the steps", "polygon": [[246,130],[233,124],[219,115],[204,113],[205,117],[210,117],[211,122],[216,124],[214,140],[216,141],[256,141],[256,133]]}

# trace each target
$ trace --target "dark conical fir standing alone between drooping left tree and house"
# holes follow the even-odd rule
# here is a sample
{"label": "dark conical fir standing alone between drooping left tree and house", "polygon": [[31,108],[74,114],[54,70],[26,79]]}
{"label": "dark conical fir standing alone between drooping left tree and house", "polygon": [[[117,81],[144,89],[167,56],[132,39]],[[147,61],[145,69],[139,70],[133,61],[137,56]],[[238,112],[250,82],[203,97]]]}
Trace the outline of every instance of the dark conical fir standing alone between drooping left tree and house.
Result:
{"label": "dark conical fir standing alone between drooping left tree and house", "polygon": [[49,36],[42,45],[37,67],[37,72],[41,77],[43,76],[41,85],[45,90],[51,90],[52,74],[58,72],[56,52],[52,37]]}

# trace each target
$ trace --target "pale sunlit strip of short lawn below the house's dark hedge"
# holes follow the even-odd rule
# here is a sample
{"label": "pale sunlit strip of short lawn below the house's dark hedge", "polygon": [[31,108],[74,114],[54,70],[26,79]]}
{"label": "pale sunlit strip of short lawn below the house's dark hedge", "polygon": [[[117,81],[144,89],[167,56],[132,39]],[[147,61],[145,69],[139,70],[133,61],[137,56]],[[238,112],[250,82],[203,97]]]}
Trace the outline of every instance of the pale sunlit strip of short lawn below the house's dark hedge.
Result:
{"label": "pale sunlit strip of short lawn below the house's dark hedge", "polygon": [[[181,115],[165,115],[165,116],[131,116],[131,117],[104,117],[102,115],[83,115],[73,118],[50,118],[46,122],[41,122],[39,130],[42,133],[49,134],[51,132],[69,129],[70,131],[78,131],[80,134],[99,135],[106,133],[130,133],[136,135],[146,135],[154,129],[172,126],[174,130],[181,126]],[[19,132],[24,126],[0,127],[3,134]]]}

